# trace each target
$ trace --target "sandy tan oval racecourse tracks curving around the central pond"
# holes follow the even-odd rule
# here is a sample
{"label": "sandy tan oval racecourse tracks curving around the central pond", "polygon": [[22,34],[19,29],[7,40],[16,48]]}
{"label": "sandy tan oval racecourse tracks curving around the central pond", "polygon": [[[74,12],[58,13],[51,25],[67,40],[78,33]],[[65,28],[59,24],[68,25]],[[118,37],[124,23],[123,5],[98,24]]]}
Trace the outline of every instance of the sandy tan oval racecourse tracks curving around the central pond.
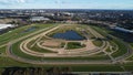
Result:
{"label": "sandy tan oval racecourse tracks curving around the central pond", "polygon": [[[113,57],[111,55],[112,53],[106,52],[106,50],[112,46],[110,42],[102,41],[102,46],[95,46],[92,43],[93,40],[90,40],[88,34],[85,35],[86,36],[85,41],[76,41],[76,42],[85,42],[86,46],[82,47],[82,49],[75,49],[73,51],[70,51],[70,50],[66,51],[64,47],[51,49],[51,47],[42,46],[40,44],[39,40],[42,36],[47,36],[48,33],[50,33],[59,28],[62,28],[63,25],[64,24],[51,26],[51,28],[45,28],[45,29],[39,30],[37,32],[33,32],[31,34],[21,36],[17,40],[10,41],[8,43],[8,49],[7,49],[8,56],[13,58],[13,60],[17,60],[19,62],[24,62],[24,63],[30,63],[30,64],[115,64],[117,62],[124,62],[124,60],[127,57],[129,53],[125,53],[124,55],[119,56],[119,57]],[[88,26],[86,30],[89,30],[90,33],[93,34],[93,36],[95,36],[95,39],[99,39],[99,38],[104,39],[104,35],[100,34],[99,32],[96,32],[92,28]],[[49,36],[47,36],[47,38],[49,38]],[[47,49],[49,51],[53,51],[53,52],[58,52],[58,53],[40,53],[40,52],[35,52],[35,51],[30,50],[28,47],[28,43],[31,42],[32,40],[37,40],[32,44],[32,46],[34,46],[37,44],[41,49]],[[37,61],[37,60],[30,60],[30,58],[25,58],[25,57],[21,57],[19,55],[16,55],[13,53],[14,50],[12,49],[12,45],[17,42],[20,42],[20,41],[22,41],[20,43],[20,46],[19,46],[20,51],[22,53],[25,53],[29,56],[37,56],[37,57],[42,57],[42,58],[43,57],[79,57],[79,56],[88,57],[88,56],[91,56],[91,55],[93,56],[95,54],[103,52],[105,55],[108,55],[110,57],[110,60],[101,60],[101,61],[100,60],[98,60],[98,61],[89,61],[89,60],[84,60],[84,61],[80,61],[80,60],[76,60],[76,61],[75,60],[71,60],[71,61],[40,60],[40,61]],[[65,42],[68,42],[68,41],[65,41]],[[70,42],[73,42],[73,41],[70,41]],[[116,47],[116,51],[119,51],[119,47]],[[130,50],[127,50],[127,51],[130,51]]]}

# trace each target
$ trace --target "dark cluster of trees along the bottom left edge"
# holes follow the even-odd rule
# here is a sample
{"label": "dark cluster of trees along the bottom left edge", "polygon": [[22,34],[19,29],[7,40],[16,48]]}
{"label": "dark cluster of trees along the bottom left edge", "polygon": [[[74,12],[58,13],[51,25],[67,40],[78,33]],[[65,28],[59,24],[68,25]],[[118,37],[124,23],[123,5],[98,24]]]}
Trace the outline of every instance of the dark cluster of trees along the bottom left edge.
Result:
{"label": "dark cluster of trees along the bottom left edge", "polygon": [[2,75],[72,75],[71,67],[7,67]]}

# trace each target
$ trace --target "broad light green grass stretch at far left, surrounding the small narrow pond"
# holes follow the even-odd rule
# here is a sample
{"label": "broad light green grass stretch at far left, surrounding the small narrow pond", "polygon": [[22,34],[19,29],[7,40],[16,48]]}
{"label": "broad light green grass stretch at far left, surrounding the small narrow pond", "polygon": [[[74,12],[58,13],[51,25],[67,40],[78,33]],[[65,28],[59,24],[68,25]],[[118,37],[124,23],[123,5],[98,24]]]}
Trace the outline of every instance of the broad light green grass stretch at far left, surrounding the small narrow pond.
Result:
{"label": "broad light green grass stretch at far left, surrounding the small narrow pond", "polygon": [[[18,28],[16,30],[12,30],[11,32],[8,32],[8,33],[0,35],[0,45],[6,44],[11,40],[16,40],[16,39],[21,38],[23,35],[30,34],[32,32],[35,32],[38,30],[41,30],[41,29],[44,29],[48,26],[52,26],[52,25],[53,24],[34,24],[34,25],[25,25],[25,26]],[[22,33],[24,30],[27,30],[31,26],[37,26],[38,29],[35,29],[34,31]]]}

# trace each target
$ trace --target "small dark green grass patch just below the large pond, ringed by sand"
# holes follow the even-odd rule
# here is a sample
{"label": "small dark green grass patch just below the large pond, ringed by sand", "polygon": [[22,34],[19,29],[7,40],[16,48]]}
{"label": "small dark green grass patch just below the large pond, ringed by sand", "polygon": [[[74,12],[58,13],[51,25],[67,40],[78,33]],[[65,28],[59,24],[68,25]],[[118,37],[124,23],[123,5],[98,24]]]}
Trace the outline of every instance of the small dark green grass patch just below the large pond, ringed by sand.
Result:
{"label": "small dark green grass patch just below the large pond, ringed by sand", "polygon": [[72,50],[72,49],[82,49],[85,47],[84,44],[81,44],[80,42],[69,42],[66,44],[66,50]]}

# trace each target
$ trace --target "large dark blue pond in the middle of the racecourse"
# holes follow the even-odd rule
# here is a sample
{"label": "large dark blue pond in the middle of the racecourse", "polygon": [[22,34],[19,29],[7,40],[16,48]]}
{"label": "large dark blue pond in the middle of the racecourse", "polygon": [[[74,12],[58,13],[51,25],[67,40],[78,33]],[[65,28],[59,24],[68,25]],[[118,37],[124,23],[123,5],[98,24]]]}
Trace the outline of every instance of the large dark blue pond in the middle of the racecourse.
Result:
{"label": "large dark blue pond in the middle of the racecourse", "polygon": [[76,33],[75,31],[66,31],[64,33],[55,33],[52,35],[54,39],[63,40],[84,40],[85,38]]}

